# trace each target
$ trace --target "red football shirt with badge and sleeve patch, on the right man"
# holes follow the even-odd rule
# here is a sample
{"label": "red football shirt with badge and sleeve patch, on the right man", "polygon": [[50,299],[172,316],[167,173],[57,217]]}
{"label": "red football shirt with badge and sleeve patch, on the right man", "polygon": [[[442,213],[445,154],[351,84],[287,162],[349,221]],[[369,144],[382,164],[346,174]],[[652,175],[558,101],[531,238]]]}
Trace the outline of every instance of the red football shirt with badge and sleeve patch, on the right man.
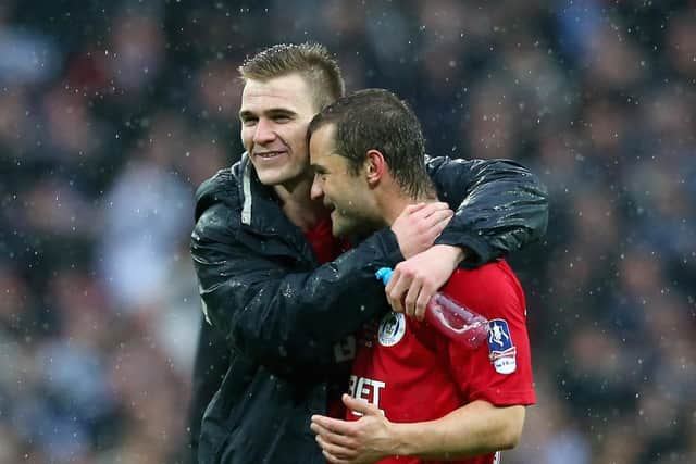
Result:
{"label": "red football shirt with badge and sleeve patch, on the right man", "polygon": [[[533,404],[524,292],[508,264],[458,269],[442,291],[489,321],[488,342],[469,350],[425,322],[389,313],[376,340],[358,348],[350,394],[375,404],[396,423],[436,419],[474,400],[497,406]],[[347,411],[346,418],[360,417]],[[490,464],[495,457],[459,462]],[[403,456],[380,461],[422,462]]]}

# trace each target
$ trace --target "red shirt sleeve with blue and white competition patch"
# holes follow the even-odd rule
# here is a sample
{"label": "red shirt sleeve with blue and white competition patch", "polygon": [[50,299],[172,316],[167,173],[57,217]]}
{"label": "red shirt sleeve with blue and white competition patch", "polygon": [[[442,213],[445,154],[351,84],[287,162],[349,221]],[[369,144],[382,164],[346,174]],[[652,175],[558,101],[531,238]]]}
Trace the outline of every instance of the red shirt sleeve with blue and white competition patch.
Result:
{"label": "red shirt sleeve with blue and white competition patch", "polygon": [[447,341],[455,381],[467,402],[534,404],[525,299],[505,262],[457,271],[443,291],[488,319],[488,339],[474,350]]}

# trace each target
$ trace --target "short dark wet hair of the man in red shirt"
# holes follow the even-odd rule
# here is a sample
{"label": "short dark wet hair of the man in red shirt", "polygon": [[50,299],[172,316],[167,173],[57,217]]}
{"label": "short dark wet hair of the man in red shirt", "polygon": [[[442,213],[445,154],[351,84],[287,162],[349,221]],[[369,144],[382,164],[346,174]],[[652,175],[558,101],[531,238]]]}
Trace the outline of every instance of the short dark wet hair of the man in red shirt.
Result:
{"label": "short dark wet hair of the man in red shirt", "polygon": [[333,124],[338,154],[357,175],[368,151],[378,150],[401,190],[412,199],[434,198],[435,188],[425,171],[423,131],[411,108],[384,89],[359,90],[336,100],[316,114],[308,141],[322,126]]}

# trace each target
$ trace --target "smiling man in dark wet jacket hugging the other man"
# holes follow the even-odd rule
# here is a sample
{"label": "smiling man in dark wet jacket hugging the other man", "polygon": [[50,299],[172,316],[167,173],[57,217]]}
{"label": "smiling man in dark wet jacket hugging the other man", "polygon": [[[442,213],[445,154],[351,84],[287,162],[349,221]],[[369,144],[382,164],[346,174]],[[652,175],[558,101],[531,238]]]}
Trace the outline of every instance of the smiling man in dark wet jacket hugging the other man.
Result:
{"label": "smiling man in dark wet jacket hugging the other man", "polygon": [[356,347],[346,336],[384,311],[374,271],[409,258],[397,267],[396,289],[417,313],[460,261],[486,262],[540,237],[546,193],[511,162],[433,159],[427,168],[442,198],[465,208],[449,221],[442,203],[409,206],[338,258],[345,243],[332,237],[322,202],[310,199],[306,138],[314,114],[343,95],[338,66],[323,47],[306,43],[264,50],[240,73],[247,152],[201,185],[191,234],[203,312],[229,350],[198,457],[319,463],[310,416],[326,413],[347,378]]}

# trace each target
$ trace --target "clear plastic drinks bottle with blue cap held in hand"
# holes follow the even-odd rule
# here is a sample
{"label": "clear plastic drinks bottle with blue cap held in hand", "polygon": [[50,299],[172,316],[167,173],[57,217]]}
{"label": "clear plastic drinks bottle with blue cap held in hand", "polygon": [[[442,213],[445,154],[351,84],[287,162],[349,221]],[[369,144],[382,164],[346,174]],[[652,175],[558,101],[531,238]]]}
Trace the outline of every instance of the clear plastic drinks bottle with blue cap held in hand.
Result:
{"label": "clear plastic drinks bottle with blue cap held in hand", "polygon": [[[391,273],[389,267],[382,267],[375,277],[386,287]],[[425,321],[446,337],[472,350],[488,337],[488,319],[439,291],[425,306]]]}

